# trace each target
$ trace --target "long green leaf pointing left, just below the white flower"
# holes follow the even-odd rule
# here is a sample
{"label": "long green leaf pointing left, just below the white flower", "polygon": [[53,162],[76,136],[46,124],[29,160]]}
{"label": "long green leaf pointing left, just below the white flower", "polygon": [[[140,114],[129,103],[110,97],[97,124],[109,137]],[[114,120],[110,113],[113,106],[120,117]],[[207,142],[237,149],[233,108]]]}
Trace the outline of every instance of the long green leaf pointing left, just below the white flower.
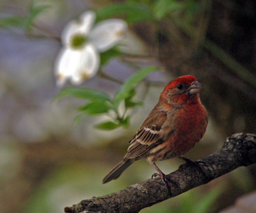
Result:
{"label": "long green leaf pointing left, just below the white flower", "polygon": [[66,88],[62,90],[55,98],[57,101],[61,97],[69,95],[77,98],[87,99],[91,101],[111,101],[110,97],[101,91],[92,90],[87,88]]}

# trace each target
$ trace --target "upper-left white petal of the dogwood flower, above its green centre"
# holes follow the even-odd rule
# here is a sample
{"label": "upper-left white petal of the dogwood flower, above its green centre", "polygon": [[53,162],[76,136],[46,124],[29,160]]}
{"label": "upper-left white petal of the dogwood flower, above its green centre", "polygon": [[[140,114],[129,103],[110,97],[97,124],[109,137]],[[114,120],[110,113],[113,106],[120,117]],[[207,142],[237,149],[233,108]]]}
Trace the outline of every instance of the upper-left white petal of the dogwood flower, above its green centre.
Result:
{"label": "upper-left white petal of the dogwood flower, above its green centre", "polygon": [[72,37],[78,35],[88,35],[89,31],[94,24],[96,14],[93,11],[84,12],[79,20],[70,21],[63,29],[61,33],[61,42],[64,46],[69,46]]}

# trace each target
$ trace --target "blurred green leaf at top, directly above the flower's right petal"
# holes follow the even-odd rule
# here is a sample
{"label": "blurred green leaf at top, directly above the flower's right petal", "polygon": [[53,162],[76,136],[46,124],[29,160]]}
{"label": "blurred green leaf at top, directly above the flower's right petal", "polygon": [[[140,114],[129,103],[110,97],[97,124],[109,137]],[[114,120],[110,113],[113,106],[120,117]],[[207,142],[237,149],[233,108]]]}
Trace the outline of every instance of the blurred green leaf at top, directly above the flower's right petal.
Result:
{"label": "blurred green leaf at top, directly above the flower's right petal", "polygon": [[121,16],[128,23],[149,21],[152,19],[151,10],[139,2],[110,3],[97,12],[97,21],[114,16]]}

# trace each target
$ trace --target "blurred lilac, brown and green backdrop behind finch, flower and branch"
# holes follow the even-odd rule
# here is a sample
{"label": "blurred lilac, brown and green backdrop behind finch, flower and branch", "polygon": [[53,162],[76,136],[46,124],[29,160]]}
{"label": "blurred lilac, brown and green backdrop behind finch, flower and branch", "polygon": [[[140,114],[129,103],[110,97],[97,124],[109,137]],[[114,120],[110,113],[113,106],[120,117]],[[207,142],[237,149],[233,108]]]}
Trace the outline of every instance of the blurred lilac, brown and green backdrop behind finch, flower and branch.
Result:
{"label": "blurred lilac, brown and green backdrop behind finch, flower and branch", "polygon": [[[44,9],[32,16],[31,8]],[[105,114],[86,115],[74,125],[77,108],[86,101],[63,97],[53,102],[62,90],[53,73],[61,31],[88,9],[102,20],[126,20],[129,48],[102,67],[104,74],[79,87],[111,96],[139,67],[165,68],[136,87],[134,99],[144,104],[128,111],[128,128],[96,129]],[[25,27],[19,20],[28,15]],[[165,84],[180,75],[192,74],[204,85],[201,100],[209,113],[204,138],[186,157],[208,156],[233,133],[256,133],[255,22],[254,0],[1,0],[1,213],[62,213],[82,199],[151,178],[154,168],[141,160],[102,185]],[[170,173],[183,163],[172,159],[157,165]],[[240,167],[141,212],[220,212],[255,189],[256,165]]]}

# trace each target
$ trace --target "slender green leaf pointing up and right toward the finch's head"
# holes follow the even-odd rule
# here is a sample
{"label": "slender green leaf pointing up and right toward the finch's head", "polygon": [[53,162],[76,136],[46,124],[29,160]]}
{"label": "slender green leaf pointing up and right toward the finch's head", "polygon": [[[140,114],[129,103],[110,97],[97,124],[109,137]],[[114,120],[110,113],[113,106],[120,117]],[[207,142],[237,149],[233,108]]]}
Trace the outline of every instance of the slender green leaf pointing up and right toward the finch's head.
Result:
{"label": "slender green leaf pointing up and right toward the finch's head", "polygon": [[128,80],[123,84],[120,91],[114,97],[115,106],[119,105],[120,102],[129,97],[130,92],[134,87],[140,83],[149,73],[156,71],[157,67],[151,66],[137,71],[135,74],[130,76]]}

